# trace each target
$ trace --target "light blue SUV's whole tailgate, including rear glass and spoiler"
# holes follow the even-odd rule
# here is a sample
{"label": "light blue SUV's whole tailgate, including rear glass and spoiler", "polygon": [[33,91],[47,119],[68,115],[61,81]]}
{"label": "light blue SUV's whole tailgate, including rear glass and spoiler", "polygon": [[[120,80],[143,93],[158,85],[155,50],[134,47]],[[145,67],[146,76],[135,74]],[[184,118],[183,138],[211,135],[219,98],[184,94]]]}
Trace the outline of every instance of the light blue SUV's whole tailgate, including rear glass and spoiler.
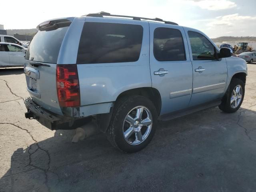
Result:
{"label": "light blue SUV's whole tailgate, including rear glass and spoiler", "polygon": [[27,90],[43,108],[62,115],[56,90],[56,66],[59,52],[71,21],[52,20],[40,26],[26,52]]}

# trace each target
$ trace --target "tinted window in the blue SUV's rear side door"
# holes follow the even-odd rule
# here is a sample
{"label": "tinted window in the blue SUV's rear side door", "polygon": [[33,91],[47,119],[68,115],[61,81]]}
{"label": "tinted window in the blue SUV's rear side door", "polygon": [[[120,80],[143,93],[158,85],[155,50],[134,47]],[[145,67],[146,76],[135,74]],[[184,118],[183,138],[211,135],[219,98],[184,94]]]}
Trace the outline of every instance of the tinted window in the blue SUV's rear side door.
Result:
{"label": "tinted window in the blue SUV's rear side door", "polygon": [[186,60],[181,32],[170,28],[154,31],[154,56],[158,61]]}

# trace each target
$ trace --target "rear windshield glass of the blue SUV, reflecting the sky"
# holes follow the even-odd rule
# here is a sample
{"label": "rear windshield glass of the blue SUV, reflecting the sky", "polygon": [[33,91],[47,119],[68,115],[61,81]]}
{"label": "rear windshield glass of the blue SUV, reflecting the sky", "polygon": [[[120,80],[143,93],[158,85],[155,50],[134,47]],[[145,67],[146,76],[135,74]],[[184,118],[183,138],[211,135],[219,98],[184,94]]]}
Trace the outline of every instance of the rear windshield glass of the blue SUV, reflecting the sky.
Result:
{"label": "rear windshield glass of the blue SUV, reflecting the sky", "polygon": [[28,50],[26,59],[45,63],[57,63],[60,46],[68,26],[55,30],[38,31],[34,36]]}

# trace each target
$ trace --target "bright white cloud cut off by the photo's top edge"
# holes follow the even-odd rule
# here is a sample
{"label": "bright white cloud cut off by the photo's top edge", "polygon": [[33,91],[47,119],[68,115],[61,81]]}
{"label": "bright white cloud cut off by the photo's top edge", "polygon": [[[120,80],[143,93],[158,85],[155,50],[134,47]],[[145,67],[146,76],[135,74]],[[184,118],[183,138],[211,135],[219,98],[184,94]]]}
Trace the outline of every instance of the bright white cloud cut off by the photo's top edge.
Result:
{"label": "bright white cloud cut off by the photo's top edge", "polygon": [[236,3],[230,0],[188,0],[195,6],[207,10],[223,10],[236,7]]}

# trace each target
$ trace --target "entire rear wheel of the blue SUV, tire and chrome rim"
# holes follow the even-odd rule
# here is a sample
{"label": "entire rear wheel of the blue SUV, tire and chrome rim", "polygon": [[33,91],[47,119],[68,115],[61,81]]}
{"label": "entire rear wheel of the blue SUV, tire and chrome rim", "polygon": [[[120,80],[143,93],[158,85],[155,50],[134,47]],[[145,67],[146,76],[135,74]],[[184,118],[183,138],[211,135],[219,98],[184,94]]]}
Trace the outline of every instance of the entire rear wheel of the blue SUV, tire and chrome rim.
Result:
{"label": "entire rear wheel of the blue SUV, tire and chrome rim", "polygon": [[148,145],[157,125],[154,104],[143,96],[130,96],[116,102],[108,140],[124,152],[137,152]]}

